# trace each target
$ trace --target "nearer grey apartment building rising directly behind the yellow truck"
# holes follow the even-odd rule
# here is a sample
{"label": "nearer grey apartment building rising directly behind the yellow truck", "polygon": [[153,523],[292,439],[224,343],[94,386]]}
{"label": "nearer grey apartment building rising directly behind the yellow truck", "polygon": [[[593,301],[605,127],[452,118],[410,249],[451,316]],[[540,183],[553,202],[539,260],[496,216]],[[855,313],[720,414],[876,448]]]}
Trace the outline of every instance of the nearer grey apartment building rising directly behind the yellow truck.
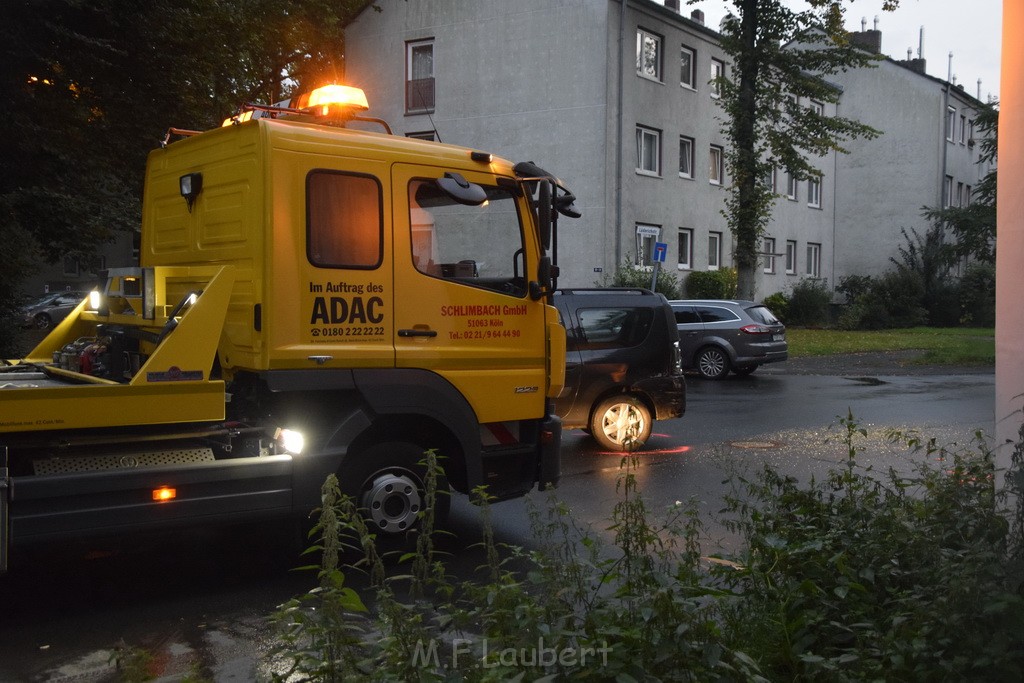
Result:
{"label": "nearer grey apartment building rising directly behind the yellow truck", "polygon": [[[699,12],[683,15],[671,0],[378,4],[348,28],[346,82],[397,133],[561,177],[584,217],[559,236],[560,284],[647,265],[654,242],[668,244],[665,267],[680,281],[732,264],[723,111],[711,84],[731,66]],[[834,280],[836,160],[820,162],[820,182],[776,174],[761,296],[800,278]]]}

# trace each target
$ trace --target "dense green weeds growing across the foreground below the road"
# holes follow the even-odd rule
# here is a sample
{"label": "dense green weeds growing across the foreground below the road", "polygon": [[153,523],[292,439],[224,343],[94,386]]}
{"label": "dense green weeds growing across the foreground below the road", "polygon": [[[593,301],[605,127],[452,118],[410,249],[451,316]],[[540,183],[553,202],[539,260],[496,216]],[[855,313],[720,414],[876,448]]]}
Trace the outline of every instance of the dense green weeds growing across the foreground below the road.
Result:
{"label": "dense green weeds growing across the foreground below the road", "polygon": [[[1024,514],[1019,496],[1000,509],[983,441],[892,434],[938,465],[876,473],[858,464],[866,430],[840,423],[848,457],[821,481],[734,475],[727,524],[744,545],[724,563],[701,557],[695,505],[649,508],[634,455],[605,528],[549,494],[529,508],[531,549],[496,543],[474,492],[484,559],[461,582],[434,547],[433,506],[415,552],[389,564],[332,477],[318,586],[274,615],[273,680],[1021,680]],[[1018,494],[1022,459],[1018,445],[1006,473]],[[446,492],[432,453],[426,464],[429,503]]]}

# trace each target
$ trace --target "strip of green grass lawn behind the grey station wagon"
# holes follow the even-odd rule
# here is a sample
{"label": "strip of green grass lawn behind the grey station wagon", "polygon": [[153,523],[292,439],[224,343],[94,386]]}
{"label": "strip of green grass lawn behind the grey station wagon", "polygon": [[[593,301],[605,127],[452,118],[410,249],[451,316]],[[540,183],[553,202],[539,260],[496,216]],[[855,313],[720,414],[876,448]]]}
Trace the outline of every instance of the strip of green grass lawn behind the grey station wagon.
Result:
{"label": "strip of green grass lawn behind the grey station wagon", "polygon": [[921,349],[918,362],[994,366],[995,331],[991,328],[908,328],[847,332],[787,328],[791,357]]}

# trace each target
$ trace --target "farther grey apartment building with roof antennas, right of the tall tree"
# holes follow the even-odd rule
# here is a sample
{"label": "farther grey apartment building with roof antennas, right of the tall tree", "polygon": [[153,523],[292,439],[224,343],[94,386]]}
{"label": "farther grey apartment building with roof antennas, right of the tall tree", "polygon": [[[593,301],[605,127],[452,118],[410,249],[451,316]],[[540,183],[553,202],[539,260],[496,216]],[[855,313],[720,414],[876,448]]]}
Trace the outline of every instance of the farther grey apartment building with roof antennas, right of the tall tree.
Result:
{"label": "farther grey apartment building with roof antennas, right of the tall tree", "polygon": [[[853,35],[882,52],[882,33]],[[836,170],[836,278],[877,275],[905,244],[901,230],[924,237],[923,207],[967,206],[991,170],[980,164],[975,122],[984,104],[963,86],[929,76],[924,59],[886,57],[874,69],[837,74],[840,113],[883,134],[860,140]],[[912,233],[911,233],[912,234]]]}

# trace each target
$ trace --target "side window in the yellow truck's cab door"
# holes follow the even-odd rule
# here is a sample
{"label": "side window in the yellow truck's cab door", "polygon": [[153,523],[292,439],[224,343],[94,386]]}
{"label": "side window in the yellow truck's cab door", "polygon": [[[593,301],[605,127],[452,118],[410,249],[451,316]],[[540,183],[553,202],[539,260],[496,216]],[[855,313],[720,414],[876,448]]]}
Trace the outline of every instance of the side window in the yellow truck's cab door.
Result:
{"label": "side window in the yellow truck's cab door", "polygon": [[413,262],[425,274],[496,290],[526,293],[519,204],[507,190],[483,186],[482,206],[457,203],[432,179],[409,185]]}

